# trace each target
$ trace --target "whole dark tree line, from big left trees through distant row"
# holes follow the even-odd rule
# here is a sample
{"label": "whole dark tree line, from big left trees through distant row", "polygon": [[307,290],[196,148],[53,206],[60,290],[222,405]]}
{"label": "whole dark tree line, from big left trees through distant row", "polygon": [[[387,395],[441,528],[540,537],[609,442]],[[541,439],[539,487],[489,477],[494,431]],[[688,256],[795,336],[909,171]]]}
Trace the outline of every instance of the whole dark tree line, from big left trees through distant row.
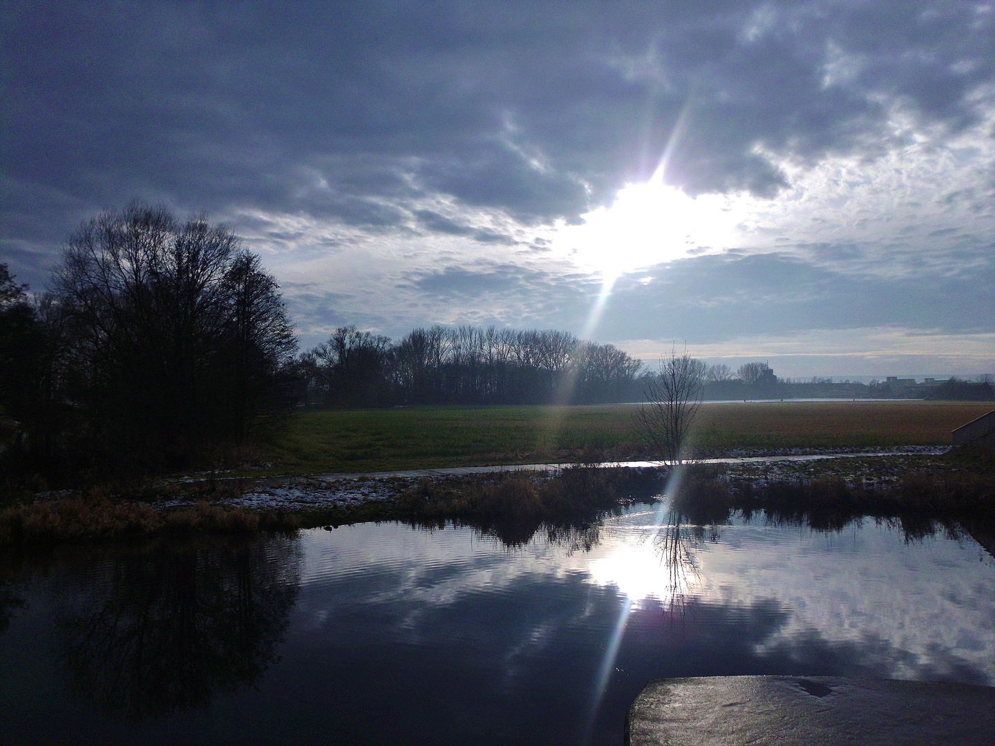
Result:
{"label": "whole dark tree line, from big left trees through distant row", "polygon": [[229,229],[133,202],[85,222],[49,288],[0,265],[0,463],[59,481],[193,466],[298,404],[640,396],[640,362],[555,330],[336,329],[298,355],[277,280]]}

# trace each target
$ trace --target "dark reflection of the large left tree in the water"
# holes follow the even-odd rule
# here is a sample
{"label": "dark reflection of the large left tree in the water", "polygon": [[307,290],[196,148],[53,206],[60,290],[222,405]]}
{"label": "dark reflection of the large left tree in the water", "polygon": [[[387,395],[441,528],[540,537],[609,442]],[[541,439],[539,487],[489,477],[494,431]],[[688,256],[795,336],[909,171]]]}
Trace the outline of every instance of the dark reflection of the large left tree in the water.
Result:
{"label": "dark reflection of the large left tree in the water", "polygon": [[252,686],[298,596],[298,542],[213,541],[115,551],[58,582],[74,692],[141,720]]}

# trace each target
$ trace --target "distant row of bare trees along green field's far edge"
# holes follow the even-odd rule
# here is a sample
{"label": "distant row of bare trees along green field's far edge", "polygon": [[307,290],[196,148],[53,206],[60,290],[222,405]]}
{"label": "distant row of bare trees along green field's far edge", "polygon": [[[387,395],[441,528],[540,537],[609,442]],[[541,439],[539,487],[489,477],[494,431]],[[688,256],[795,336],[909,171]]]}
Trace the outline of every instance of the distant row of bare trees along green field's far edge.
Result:
{"label": "distant row of bare trees along green field's far edge", "polygon": [[344,326],[298,359],[298,396],[331,407],[632,401],[640,366],[552,329],[436,325],[394,342]]}

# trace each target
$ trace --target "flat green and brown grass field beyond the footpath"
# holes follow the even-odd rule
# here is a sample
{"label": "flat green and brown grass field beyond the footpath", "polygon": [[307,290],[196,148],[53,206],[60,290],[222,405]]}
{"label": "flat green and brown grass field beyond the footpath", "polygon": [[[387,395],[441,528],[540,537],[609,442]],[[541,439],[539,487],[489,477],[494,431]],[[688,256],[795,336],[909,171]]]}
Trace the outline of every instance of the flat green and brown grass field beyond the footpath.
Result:
{"label": "flat green and brown grass field beyond the footpath", "polygon": [[[944,446],[950,431],[991,409],[976,402],[706,404],[694,442],[702,454]],[[312,410],[298,412],[255,461],[270,473],[330,473],[652,457],[636,411],[634,405]]]}

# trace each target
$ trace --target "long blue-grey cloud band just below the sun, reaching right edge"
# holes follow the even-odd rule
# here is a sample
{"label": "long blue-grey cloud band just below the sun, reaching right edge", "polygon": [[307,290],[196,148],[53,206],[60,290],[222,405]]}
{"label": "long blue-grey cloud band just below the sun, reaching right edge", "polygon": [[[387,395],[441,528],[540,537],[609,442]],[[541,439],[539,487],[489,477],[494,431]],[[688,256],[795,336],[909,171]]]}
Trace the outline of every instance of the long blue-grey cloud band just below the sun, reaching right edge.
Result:
{"label": "long blue-grey cloud band just below the sun, reaching right edge", "polygon": [[698,257],[619,280],[599,333],[707,343],[757,330],[895,325],[993,332],[992,281],[991,262],[972,278],[882,279],[778,254]]}

